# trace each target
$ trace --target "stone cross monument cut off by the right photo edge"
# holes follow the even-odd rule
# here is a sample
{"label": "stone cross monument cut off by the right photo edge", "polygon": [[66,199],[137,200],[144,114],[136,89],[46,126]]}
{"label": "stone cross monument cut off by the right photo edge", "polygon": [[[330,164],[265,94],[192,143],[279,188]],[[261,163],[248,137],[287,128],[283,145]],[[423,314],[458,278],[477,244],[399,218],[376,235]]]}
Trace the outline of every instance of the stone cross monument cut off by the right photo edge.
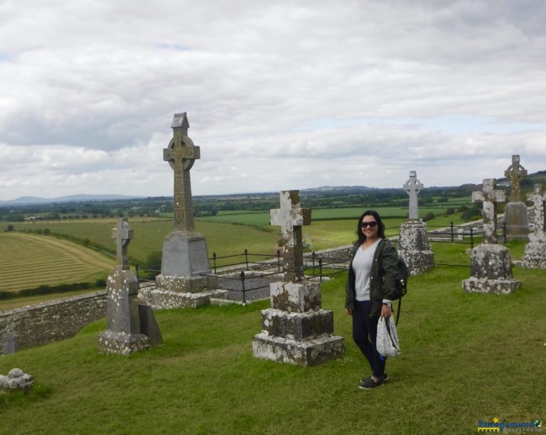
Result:
{"label": "stone cross monument cut off by the right photo edge", "polygon": [[525,246],[525,255],[521,259],[522,267],[528,269],[546,269],[545,206],[546,193],[542,184],[535,184],[528,200],[533,203],[533,225],[535,232],[529,235],[530,242]]}

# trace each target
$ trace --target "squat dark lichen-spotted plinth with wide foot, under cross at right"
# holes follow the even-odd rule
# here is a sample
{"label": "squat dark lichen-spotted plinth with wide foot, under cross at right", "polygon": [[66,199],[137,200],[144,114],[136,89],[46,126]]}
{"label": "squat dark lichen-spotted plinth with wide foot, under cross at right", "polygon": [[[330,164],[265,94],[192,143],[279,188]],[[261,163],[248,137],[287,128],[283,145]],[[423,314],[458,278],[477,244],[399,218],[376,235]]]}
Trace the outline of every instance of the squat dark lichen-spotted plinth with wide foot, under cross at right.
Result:
{"label": "squat dark lichen-spotted plinth with wide foot, under cross at right", "polygon": [[472,249],[471,276],[463,281],[469,293],[510,294],[520,289],[513,279],[510,251],[501,245],[478,245]]}

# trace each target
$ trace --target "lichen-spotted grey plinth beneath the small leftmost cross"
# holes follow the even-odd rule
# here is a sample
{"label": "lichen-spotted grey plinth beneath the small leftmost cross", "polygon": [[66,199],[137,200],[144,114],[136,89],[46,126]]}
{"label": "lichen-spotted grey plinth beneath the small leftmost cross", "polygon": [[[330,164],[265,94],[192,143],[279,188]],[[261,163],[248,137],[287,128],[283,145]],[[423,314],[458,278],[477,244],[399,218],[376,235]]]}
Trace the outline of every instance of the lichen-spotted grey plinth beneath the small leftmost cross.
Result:
{"label": "lichen-spotted grey plinth beneath the small leftmost cross", "polygon": [[[146,308],[139,309],[138,292],[139,281],[130,270],[116,269],[113,275],[108,276],[106,305],[108,329],[97,338],[97,348],[100,352],[129,355],[163,342],[153,313]],[[152,338],[141,331],[139,311],[142,309],[143,313],[147,313],[147,318],[143,319],[144,328],[154,329]]]}

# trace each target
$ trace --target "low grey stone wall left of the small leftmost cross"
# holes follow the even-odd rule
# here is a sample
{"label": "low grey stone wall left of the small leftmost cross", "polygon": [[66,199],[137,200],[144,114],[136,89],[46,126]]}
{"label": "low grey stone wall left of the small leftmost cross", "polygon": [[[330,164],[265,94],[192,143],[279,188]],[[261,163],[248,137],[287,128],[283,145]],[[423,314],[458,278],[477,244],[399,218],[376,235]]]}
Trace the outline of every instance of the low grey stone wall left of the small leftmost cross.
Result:
{"label": "low grey stone wall left of the small leftmost cross", "polygon": [[106,316],[106,291],[0,311],[0,354],[75,335]]}

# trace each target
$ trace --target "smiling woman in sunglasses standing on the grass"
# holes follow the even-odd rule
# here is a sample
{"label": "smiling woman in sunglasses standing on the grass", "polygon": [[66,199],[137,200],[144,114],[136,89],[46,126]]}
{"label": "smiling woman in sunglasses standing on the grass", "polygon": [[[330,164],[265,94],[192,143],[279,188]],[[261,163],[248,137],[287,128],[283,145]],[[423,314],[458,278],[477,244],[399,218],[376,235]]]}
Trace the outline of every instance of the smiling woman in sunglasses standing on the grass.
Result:
{"label": "smiling woman in sunglasses standing on the grass", "polygon": [[368,390],[388,380],[386,357],[375,348],[375,338],[379,318],[392,313],[398,253],[385,239],[385,225],[373,210],[365,211],[358,219],[357,235],[349,263],[345,311],[353,316],[353,340],[372,369],[372,375],[361,379],[358,385]]}

